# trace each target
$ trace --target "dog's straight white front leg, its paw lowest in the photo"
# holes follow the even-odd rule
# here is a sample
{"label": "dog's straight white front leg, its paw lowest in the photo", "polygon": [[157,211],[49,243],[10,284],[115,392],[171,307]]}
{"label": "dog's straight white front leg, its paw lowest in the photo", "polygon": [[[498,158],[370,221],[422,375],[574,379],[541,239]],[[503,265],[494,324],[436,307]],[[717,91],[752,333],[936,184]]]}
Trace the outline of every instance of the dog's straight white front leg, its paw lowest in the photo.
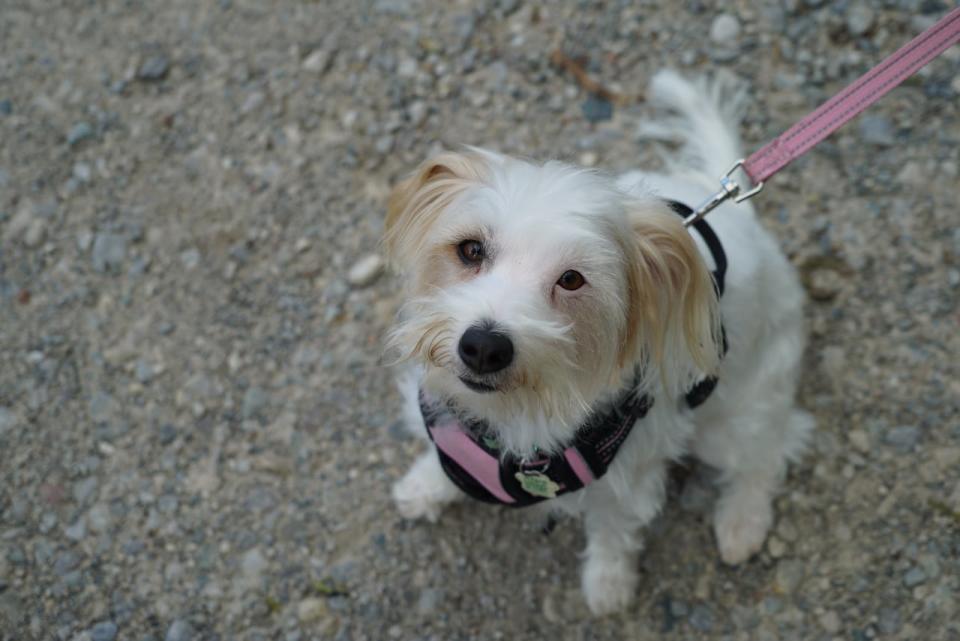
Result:
{"label": "dog's straight white front leg, its paw lowest in the photo", "polygon": [[584,513],[587,549],[582,585],[594,614],[622,610],[633,600],[639,580],[637,557],[643,549],[640,530],[663,504],[662,477],[662,466],[645,472],[626,496],[603,488]]}

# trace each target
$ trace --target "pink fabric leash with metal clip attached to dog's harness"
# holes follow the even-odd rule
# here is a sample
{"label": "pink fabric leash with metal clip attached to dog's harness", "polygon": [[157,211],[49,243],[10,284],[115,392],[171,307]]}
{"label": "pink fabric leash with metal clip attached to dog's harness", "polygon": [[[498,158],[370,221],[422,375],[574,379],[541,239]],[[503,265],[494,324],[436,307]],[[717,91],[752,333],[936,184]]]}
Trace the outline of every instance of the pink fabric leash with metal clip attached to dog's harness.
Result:
{"label": "pink fabric leash with metal clip attached to dog's harness", "polygon": [[[960,7],[901,47],[892,56],[865,73],[856,82],[820,105],[816,111],[787,129],[746,160],[738,160],[720,179],[722,189],[697,207],[684,221],[688,227],[720,203],[733,198],[742,202],[763,189],[775,173],[810,151],[817,143],[845,125],[921,67],[960,41]],[[741,194],[732,174],[742,168],[752,189]]]}

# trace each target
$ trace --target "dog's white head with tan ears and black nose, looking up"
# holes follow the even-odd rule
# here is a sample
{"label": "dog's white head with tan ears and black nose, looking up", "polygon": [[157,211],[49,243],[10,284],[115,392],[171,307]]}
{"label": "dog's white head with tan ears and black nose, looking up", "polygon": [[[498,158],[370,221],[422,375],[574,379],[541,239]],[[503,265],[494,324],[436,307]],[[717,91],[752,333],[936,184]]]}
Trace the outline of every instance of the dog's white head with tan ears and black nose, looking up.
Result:
{"label": "dog's white head with tan ears and black nose, looking up", "polygon": [[643,363],[679,389],[717,360],[716,297],[681,219],[595,172],[444,153],[394,190],[401,357],[465,407],[578,420]]}

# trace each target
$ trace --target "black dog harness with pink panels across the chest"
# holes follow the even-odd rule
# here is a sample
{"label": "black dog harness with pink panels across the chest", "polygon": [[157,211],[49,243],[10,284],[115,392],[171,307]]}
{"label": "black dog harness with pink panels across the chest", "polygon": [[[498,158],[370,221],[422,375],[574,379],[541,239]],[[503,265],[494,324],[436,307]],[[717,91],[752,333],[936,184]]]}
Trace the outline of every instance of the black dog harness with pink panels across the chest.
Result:
{"label": "black dog harness with pink panels across the chest", "polygon": [[[682,203],[667,204],[684,218],[692,213]],[[697,221],[693,227],[713,255],[713,283],[719,297],[727,271],[726,253],[705,220]],[[722,338],[726,353],[725,332]],[[686,394],[687,406],[692,409],[701,405],[716,386],[715,376],[694,385]],[[633,426],[653,406],[654,399],[638,395],[636,387],[631,385],[609,405],[594,411],[577,430],[573,443],[562,452],[538,452],[531,459],[503,453],[495,431],[485,421],[463,416],[452,403],[433,401],[422,391],[420,412],[427,434],[437,447],[440,463],[457,487],[481,501],[524,507],[579,490],[607,472]]]}

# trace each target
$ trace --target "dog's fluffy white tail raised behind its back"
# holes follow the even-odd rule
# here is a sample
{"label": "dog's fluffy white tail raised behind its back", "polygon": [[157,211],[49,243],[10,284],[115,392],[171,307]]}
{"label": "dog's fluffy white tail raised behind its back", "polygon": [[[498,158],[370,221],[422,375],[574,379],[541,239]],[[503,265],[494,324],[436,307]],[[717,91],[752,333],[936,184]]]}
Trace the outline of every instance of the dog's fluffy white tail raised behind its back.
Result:
{"label": "dog's fluffy white tail raised behind its back", "polygon": [[640,126],[640,136],[679,143],[677,153],[665,154],[671,172],[693,174],[715,187],[735,160],[742,157],[738,127],[747,107],[747,88],[729,72],[711,81],[689,81],[675,71],[657,73],[647,98],[671,113]]}

